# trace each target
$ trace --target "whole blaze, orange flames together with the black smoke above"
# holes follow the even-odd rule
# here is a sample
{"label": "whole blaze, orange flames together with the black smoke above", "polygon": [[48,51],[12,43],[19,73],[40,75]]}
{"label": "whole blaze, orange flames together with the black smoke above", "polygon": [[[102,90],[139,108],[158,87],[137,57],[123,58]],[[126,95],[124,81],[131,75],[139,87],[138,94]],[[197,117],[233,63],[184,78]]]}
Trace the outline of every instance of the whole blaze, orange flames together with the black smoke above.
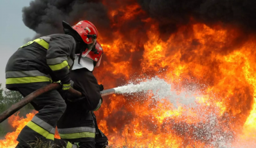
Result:
{"label": "whole blaze, orange flames together with the black smoke above", "polygon": [[[256,147],[255,1],[35,0],[24,23],[37,36],[62,20],[92,21],[104,57],[95,76],[105,89],[157,76],[194,105],[154,93],[104,97],[95,112],[113,147]],[[37,37],[36,36],[36,37]],[[27,119],[0,140],[15,147]],[[16,143],[17,144],[17,143]]]}

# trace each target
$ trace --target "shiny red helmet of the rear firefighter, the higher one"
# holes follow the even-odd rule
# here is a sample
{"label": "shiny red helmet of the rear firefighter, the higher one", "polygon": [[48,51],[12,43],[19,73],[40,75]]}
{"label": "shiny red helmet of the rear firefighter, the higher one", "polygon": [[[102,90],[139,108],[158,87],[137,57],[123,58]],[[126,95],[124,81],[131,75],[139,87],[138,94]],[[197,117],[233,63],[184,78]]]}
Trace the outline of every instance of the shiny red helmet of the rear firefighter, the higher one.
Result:
{"label": "shiny red helmet of the rear firefighter, the higher one", "polygon": [[95,25],[90,21],[80,21],[76,25],[72,26],[73,30],[75,30],[82,38],[84,43],[95,45],[98,37],[98,30],[95,28]]}

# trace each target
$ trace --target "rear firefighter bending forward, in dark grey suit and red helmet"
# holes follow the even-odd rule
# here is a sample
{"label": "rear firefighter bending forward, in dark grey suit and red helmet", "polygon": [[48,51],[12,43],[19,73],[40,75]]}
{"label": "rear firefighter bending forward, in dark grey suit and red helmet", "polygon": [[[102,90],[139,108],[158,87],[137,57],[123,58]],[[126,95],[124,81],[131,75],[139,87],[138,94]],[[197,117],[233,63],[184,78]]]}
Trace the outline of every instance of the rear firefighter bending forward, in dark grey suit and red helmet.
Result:
{"label": "rear firefighter bending forward, in dark grey suit and red helmet", "polygon": [[[52,83],[61,81],[66,92],[71,87],[69,70],[75,54],[92,49],[98,30],[89,21],[80,21],[73,27],[62,22],[65,34],[51,34],[29,41],[12,54],[6,65],[6,88],[19,91],[22,96]],[[30,147],[31,142],[54,141],[55,127],[66,109],[66,103],[57,90],[46,92],[31,104],[38,111],[21,130],[17,147]]]}

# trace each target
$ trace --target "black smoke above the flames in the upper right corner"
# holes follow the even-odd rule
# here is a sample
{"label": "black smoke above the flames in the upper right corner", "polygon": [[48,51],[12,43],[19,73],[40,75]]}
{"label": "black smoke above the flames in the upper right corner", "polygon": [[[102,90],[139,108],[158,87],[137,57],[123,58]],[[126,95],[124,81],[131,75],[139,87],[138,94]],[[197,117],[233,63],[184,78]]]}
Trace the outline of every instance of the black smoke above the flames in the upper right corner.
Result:
{"label": "black smoke above the flames in the upper right corner", "polygon": [[172,34],[191,19],[207,25],[235,25],[246,32],[256,30],[254,0],[138,0],[138,3],[159,21],[163,36]]}

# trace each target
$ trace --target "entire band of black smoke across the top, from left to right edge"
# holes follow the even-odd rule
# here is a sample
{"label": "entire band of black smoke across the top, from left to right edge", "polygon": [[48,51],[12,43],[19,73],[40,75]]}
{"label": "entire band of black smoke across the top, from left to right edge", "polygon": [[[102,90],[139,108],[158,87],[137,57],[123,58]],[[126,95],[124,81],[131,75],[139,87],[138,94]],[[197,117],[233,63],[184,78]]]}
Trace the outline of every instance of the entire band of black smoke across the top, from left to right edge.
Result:
{"label": "entire band of black smoke across the top, from left to right edge", "polygon": [[[103,4],[104,3],[104,4]],[[139,3],[146,14],[122,22],[125,12],[123,7]],[[62,21],[73,25],[81,20],[95,24],[104,41],[111,41],[113,32],[119,30],[125,39],[130,39],[129,32],[136,30],[137,36],[147,36],[148,24],[143,19],[153,18],[158,21],[161,38],[166,40],[181,25],[187,25],[194,19],[196,22],[212,25],[223,23],[235,25],[243,31],[256,30],[256,1],[254,0],[35,0],[23,9],[23,20],[28,28],[35,30],[37,36],[62,33]],[[119,9],[119,10],[118,10]],[[109,12],[118,13],[109,19]],[[129,34],[127,36],[127,34]],[[143,39],[143,38],[140,38]]]}

